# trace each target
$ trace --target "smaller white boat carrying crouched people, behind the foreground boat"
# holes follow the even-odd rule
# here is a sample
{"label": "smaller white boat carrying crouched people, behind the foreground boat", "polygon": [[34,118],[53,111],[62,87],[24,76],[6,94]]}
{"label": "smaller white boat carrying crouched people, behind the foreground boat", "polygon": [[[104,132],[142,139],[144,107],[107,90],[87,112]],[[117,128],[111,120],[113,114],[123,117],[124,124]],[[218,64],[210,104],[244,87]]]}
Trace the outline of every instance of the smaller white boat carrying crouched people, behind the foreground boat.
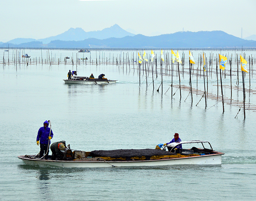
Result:
{"label": "smaller white boat carrying crouched people, behind the foreground boat", "polygon": [[77,76],[77,71],[72,71],[72,78],[65,79],[65,84],[114,84],[117,80],[108,80],[107,78],[90,78]]}

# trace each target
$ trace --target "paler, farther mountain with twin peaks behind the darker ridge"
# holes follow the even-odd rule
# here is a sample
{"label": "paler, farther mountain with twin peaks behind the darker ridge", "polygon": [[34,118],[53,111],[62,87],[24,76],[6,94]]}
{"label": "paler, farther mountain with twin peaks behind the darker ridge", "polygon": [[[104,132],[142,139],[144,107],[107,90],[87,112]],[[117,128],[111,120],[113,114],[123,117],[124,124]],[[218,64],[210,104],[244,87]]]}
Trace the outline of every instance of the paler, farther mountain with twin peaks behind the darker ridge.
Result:
{"label": "paler, farther mountain with twin peaks behind the darker ridge", "polygon": [[129,33],[128,31],[123,30],[120,26],[117,24],[114,24],[113,26],[109,28],[105,28],[101,31],[89,31],[86,32],[82,28],[70,28],[69,30],[65,31],[62,34],[38,39],[35,40],[33,38],[16,38],[11,41],[8,41],[9,43],[14,44],[21,44],[21,43],[27,43],[32,41],[41,41],[43,44],[48,44],[51,41],[60,40],[60,41],[83,41],[87,38],[97,38],[97,39],[106,39],[106,38],[123,38],[125,36],[133,36],[135,34]]}

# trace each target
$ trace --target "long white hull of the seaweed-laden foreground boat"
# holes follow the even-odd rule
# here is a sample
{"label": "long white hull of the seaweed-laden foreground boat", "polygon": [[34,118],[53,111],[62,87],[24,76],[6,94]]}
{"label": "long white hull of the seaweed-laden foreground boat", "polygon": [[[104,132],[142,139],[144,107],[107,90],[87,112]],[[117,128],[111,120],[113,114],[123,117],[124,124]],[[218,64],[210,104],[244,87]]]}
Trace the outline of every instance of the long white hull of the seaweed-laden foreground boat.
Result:
{"label": "long white hull of the seaweed-laden foreground boat", "polygon": [[172,165],[221,165],[221,155],[224,153],[189,156],[185,158],[142,160],[142,161],[61,161],[31,159],[18,156],[24,163],[42,167],[143,167]]}

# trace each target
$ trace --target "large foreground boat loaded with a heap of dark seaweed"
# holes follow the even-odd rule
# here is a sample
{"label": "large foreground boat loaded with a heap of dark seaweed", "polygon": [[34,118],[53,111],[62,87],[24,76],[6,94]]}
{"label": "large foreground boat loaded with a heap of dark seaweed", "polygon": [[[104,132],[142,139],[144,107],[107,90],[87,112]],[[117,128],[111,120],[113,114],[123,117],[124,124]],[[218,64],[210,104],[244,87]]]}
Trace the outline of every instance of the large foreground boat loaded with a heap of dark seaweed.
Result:
{"label": "large foreground boat loaded with a heap of dark seaweed", "polygon": [[[178,145],[189,144],[190,149],[180,149]],[[197,144],[197,145],[196,145]],[[206,144],[210,149],[205,148]],[[194,146],[202,145],[202,148]],[[160,149],[116,149],[94,150],[91,152],[72,150],[68,145],[60,160],[38,159],[38,155],[18,156],[25,164],[40,167],[140,167],[172,165],[221,165],[222,152],[214,151],[208,141],[182,141],[166,145]],[[49,156],[50,158],[50,156]]]}

